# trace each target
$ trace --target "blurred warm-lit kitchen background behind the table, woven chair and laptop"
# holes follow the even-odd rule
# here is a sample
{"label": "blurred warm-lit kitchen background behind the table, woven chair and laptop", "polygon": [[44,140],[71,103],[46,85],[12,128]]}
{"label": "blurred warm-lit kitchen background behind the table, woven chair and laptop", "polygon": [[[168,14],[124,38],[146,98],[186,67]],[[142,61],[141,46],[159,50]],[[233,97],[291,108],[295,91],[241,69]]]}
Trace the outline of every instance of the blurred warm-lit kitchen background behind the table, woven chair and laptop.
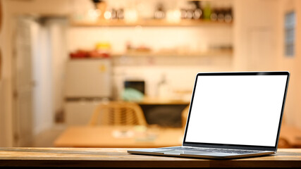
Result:
{"label": "blurred warm-lit kitchen background behind the table, woven chair and laptop", "polygon": [[283,124],[301,142],[301,1],[0,3],[0,146],[54,146],[104,101],[181,127],[196,73],[257,70],[290,71]]}

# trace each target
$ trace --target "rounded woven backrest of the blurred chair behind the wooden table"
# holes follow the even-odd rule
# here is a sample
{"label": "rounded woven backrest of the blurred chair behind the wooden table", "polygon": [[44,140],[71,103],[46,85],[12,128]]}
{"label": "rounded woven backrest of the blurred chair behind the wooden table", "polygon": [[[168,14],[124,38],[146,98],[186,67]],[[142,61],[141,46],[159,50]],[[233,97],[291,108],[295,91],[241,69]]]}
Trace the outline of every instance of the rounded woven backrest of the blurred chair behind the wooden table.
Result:
{"label": "rounded woven backrest of the blurred chair behind the wooden table", "polygon": [[100,103],[94,110],[90,125],[147,125],[138,104],[128,101]]}

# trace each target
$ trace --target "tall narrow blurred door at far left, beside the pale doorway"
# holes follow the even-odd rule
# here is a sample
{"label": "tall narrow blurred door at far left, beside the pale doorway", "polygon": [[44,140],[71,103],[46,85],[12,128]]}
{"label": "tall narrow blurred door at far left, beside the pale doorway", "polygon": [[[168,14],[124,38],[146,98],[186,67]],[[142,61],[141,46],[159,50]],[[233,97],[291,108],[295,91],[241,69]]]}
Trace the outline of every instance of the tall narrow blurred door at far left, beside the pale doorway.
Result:
{"label": "tall narrow blurred door at far left, beside the pale doorway", "polygon": [[13,146],[32,144],[32,45],[31,18],[16,19],[13,61]]}

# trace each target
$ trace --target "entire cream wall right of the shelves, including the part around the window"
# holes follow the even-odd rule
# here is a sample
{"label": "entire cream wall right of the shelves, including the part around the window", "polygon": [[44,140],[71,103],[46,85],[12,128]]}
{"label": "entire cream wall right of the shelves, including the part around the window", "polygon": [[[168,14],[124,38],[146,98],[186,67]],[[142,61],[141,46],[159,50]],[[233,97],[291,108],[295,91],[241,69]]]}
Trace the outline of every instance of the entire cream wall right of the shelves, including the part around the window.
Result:
{"label": "entire cream wall right of the shelves, including the part around the window", "polygon": [[[235,70],[288,70],[290,82],[285,102],[283,123],[301,127],[300,40],[301,29],[296,26],[294,57],[284,55],[284,16],[296,11],[300,23],[301,1],[237,0],[235,4]],[[256,8],[256,12],[254,12]],[[269,13],[267,13],[269,12]]]}

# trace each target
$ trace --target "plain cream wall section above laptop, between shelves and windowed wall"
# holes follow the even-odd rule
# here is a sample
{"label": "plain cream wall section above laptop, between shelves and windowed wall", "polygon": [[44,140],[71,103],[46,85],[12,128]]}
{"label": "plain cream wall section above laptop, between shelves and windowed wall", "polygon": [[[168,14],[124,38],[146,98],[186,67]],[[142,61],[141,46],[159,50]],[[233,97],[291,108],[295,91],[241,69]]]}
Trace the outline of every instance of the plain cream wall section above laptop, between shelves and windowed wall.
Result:
{"label": "plain cream wall section above laptop, between shelves and windowed wall", "polygon": [[235,70],[274,70],[278,1],[244,0],[235,4]]}

